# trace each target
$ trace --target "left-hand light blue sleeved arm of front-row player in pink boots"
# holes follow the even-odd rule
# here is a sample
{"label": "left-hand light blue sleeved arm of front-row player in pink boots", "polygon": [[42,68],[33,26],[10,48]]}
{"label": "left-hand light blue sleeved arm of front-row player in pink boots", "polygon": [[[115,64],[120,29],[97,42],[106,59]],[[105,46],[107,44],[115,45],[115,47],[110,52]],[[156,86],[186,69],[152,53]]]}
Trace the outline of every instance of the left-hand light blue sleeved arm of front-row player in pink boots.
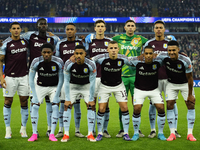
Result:
{"label": "left-hand light blue sleeved arm of front-row player in pink boots", "polygon": [[35,83],[34,83],[34,78],[35,78],[38,64],[39,64],[38,58],[35,58],[32,61],[31,67],[29,69],[29,85],[33,94],[32,102],[35,104],[39,103],[38,98],[37,98],[37,93],[35,90]]}

